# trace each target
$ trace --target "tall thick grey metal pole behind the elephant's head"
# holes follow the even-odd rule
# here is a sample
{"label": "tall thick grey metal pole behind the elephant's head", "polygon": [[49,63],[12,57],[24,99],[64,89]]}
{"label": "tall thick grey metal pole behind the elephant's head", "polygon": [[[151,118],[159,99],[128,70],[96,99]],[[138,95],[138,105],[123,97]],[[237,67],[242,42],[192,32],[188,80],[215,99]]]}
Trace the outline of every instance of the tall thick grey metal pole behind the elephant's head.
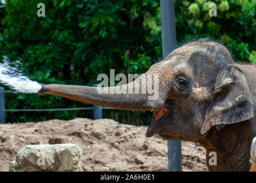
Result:
{"label": "tall thick grey metal pole behind the elephant's head", "polygon": [[[160,0],[163,58],[175,49],[176,28],[174,0]],[[182,148],[179,140],[167,141],[170,172],[182,171]]]}

